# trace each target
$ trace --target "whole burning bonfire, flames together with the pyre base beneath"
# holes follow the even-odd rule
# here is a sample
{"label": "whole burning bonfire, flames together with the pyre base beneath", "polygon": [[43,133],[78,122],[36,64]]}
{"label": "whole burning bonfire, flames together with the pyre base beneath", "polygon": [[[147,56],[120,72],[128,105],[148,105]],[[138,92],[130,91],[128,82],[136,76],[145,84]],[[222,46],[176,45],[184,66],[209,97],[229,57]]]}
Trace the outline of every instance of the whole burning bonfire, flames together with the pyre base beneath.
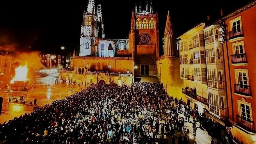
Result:
{"label": "whole burning bonfire, flames together with the pyre base beneath", "polygon": [[27,84],[29,82],[29,79],[27,79],[28,75],[28,66],[19,66],[15,68],[15,76],[11,80],[11,84],[13,85],[12,88],[14,90],[21,90],[25,91],[27,90]]}

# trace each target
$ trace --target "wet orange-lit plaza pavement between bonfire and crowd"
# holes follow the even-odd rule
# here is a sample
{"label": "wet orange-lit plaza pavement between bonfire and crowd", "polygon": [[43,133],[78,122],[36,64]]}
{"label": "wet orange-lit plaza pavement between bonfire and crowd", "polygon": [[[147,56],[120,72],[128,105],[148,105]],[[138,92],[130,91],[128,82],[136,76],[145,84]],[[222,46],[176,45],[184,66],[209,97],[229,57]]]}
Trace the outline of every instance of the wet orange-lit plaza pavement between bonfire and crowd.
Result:
{"label": "wet orange-lit plaza pavement between bonfire and crowd", "polygon": [[[52,101],[63,99],[70,95],[71,84],[61,83],[55,84],[55,79],[58,76],[48,76],[39,79],[34,79],[34,89],[28,92],[21,93],[4,93],[0,92],[3,97],[2,114],[0,115],[0,123],[7,122],[10,119],[24,115],[25,113],[31,113],[33,107],[41,107],[45,104],[51,104]],[[72,86],[73,92],[80,91],[79,86]],[[85,88],[85,87],[82,87]],[[37,99],[37,104],[22,104],[21,102],[9,102],[10,95],[27,94],[26,101],[32,101]]]}

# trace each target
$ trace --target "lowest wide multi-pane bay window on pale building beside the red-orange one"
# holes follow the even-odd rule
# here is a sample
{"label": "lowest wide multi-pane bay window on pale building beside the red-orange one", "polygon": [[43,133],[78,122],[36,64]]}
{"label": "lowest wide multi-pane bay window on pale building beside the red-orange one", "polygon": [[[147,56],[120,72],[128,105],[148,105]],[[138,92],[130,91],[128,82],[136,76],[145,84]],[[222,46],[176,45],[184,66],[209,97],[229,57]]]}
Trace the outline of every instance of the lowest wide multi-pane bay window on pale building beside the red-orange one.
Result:
{"label": "lowest wide multi-pane bay window on pale building beside the red-orange one", "polygon": [[218,95],[209,93],[209,108],[212,113],[220,115]]}

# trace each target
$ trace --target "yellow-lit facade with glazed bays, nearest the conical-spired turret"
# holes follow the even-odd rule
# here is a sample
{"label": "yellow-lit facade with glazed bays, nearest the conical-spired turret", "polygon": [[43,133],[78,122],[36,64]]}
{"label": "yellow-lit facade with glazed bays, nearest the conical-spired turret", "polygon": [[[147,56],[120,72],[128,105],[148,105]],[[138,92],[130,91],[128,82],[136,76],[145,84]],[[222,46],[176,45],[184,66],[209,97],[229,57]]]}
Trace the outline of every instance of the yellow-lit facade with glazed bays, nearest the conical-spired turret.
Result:
{"label": "yellow-lit facade with glazed bays, nearest the conical-spired turret", "polygon": [[205,23],[200,23],[179,36],[182,93],[185,102],[199,113],[209,109],[204,28]]}

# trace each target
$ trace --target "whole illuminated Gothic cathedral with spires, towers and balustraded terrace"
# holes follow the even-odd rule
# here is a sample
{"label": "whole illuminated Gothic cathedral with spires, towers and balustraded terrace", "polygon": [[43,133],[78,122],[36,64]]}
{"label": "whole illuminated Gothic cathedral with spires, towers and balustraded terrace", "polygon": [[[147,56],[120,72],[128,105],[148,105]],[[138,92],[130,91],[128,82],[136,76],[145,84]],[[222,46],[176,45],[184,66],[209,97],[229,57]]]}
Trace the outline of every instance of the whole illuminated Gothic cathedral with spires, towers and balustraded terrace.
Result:
{"label": "whole illuminated Gothic cathedral with spires, towers and balustraded terrace", "polygon": [[[104,81],[121,86],[134,82],[135,75],[157,76],[161,81],[164,76],[161,71],[169,70],[169,74],[173,75],[171,68],[177,67],[179,70],[177,40],[169,13],[163,38],[164,45],[160,46],[158,12],[153,11],[152,1],[149,3],[146,0],[144,6],[143,9],[141,2],[139,6],[135,3],[131,14],[129,39],[111,40],[106,38],[104,33],[102,6],[98,4],[95,8],[94,0],[89,0],[81,23],[79,56],[73,56],[71,62],[74,72],[61,72],[61,79],[85,84]],[[159,55],[159,47],[164,49],[163,56]],[[163,65],[166,61],[168,63]],[[90,73],[92,71],[129,75],[99,75]],[[166,88],[169,86],[167,82],[163,84]]]}

